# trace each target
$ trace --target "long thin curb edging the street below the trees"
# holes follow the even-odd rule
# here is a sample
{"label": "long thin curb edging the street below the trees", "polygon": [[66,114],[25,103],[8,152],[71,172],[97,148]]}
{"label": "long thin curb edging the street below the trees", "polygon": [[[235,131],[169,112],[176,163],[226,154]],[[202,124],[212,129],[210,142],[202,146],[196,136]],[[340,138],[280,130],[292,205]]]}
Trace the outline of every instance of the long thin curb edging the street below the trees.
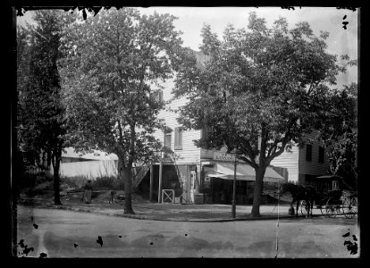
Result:
{"label": "long thin curb edging the street below the trees", "polygon": [[[45,208],[45,209],[60,209],[60,210],[69,210],[74,212],[80,212],[80,213],[89,213],[89,214],[99,214],[99,215],[105,215],[105,216],[113,216],[113,217],[122,217],[122,218],[130,218],[130,219],[136,219],[136,220],[146,220],[146,221],[160,221],[160,222],[248,222],[248,221],[268,221],[268,220],[280,220],[280,219],[297,219],[293,215],[282,215],[282,216],[261,216],[261,217],[248,217],[248,218],[235,218],[235,219],[176,219],[176,218],[158,218],[158,217],[147,217],[147,216],[141,216],[137,214],[108,214],[108,213],[102,213],[93,209],[85,209],[85,208],[79,208],[79,207],[67,207],[63,205],[38,205],[38,204],[19,204],[23,206],[34,206],[38,208]],[[324,215],[321,214],[314,214],[312,217],[321,217]],[[298,218],[306,218],[304,215],[299,215]]]}

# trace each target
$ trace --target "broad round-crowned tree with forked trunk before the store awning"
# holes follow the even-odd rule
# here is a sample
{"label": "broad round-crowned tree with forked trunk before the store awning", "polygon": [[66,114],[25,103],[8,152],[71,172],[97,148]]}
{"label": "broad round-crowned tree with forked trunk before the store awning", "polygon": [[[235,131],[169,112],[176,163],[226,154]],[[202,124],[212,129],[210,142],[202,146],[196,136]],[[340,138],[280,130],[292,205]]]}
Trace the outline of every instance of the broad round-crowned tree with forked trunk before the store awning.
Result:
{"label": "broad round-crowned tree with forked trunk before the store awning", "polygon": [[328,85],[348,61],[339,64],[326,53],[328,33],[316,37],[307,22],[288,29],[280,18],[268,29],[265,19],[250,13],[248,29],[229,25],[220,40],[205,25],[201,35],[204,68],[189,49],[175,62],[173,94],[189,98],[179,122],[185,129],[207,129],[198,147],[240,149],[240,160],[256,171],[251,214],[257,217],[266,167],[294,143],[307,141],[305,134],[330,113],[323,106]]}

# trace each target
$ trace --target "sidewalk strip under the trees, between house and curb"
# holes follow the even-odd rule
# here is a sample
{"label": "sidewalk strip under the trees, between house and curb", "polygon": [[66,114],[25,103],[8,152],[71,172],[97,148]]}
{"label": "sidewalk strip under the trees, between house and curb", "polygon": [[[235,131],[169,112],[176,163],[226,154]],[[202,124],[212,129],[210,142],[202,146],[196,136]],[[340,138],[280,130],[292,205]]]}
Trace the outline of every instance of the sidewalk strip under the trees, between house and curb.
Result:
{"label": "sidewalk strip under the trees, between house and curb", "polygon": [[[132,200],[132,209],[135,214],[123,214],[122,201],[119,204],[108,204],[107,200],[94,200],[92,204],[83,204],[80,200],[62,198],[63,205],[54,205],[53,199],[37,197],[21,197],[19,205],[27,205],[39,208],[53,208],[71,210],[77,212],[104,214],[109,216],[127,217],[140,220],[153,221],[176,221],[176,222],[232,222],[232,221],[256,221],[277,220],[282,218],[294,218],[288,214],[289,205],[261,205],[261,217],[250,216],[252,205],[237,205],[236,218],[231,218],[231,205],[181,205],[172,203],[151,203],[147,200]],[[321,212],[314,209],[313,216],[319,216]],[[299,217],[304,217],[300,214]]]}

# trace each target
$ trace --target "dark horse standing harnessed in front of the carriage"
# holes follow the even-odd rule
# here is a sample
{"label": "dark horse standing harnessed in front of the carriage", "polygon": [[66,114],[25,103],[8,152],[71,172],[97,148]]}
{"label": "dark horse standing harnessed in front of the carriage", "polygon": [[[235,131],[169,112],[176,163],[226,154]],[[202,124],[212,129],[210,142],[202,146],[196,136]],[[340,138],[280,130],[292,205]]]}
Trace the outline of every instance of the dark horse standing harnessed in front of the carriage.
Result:
{"label": "dark horse standing harnessed in front of the carriage", "polygon": [[306,210],[307,210],[306,217],[312,217],[312,209],[314,206],[314,202],[318,196],[314,187],[312,186],[304,187],[302,185],[287,182],[282,184],[279,191],[279,195],[282,196],[286,192],[290,192],[291,197],[293,197],[290,203],[290,207],[293,207],[293,203],[297,202],[296,217],[298,217],[299,203],[301,200],[306,201]]}

